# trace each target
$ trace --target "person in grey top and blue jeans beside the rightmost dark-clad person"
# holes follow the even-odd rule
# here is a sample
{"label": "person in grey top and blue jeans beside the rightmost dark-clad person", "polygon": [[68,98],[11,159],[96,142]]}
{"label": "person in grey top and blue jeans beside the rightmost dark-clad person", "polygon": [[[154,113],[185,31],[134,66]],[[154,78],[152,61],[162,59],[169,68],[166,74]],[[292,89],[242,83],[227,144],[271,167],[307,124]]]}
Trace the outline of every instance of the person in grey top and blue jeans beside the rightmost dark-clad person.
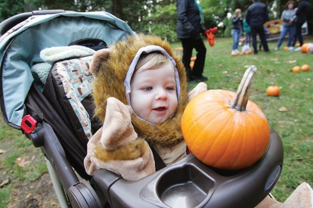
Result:
{"label": "person in grey top and blue jeans beside the rightmost dark-clad person", "polygon": [[289,33],[287,47],[289,48],[291,44],[293,44],[292,41],[294,41],[296,29],[294,24],[294,19],[296,18],[296,11],[294,10],[294,6],[295,6],[294,1],[288,1],[286,4],[287,9],[284,10],[281,15],[281,19],[283,20],[283,30],[281,32],[281,36],[277,43],[277,46],[275,47],[275,50],[279,49],[287,33]]}

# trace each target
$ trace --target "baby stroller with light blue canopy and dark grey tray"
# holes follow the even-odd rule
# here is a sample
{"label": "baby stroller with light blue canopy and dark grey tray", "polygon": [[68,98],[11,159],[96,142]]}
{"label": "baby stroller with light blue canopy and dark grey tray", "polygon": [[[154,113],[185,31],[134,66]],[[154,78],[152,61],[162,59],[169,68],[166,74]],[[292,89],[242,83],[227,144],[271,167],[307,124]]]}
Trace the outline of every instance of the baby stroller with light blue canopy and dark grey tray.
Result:
{"label": "baby stroller with light blue canopy and dark grey tray", "polygon": [[16,15],[0,32],[4,121],[41,148],[62,207],[253,207],[275,186],[283,145],[273,129],[264,156],[244,170],[218,170],[190,153],[135,182],[105,169],[90,177],[83,163],[87,143],[102,125],[93,119],[92,55],[53,62],[44,81],[32,69],[45,48],[97,50],[135,33],[106,12],[62,10]]}

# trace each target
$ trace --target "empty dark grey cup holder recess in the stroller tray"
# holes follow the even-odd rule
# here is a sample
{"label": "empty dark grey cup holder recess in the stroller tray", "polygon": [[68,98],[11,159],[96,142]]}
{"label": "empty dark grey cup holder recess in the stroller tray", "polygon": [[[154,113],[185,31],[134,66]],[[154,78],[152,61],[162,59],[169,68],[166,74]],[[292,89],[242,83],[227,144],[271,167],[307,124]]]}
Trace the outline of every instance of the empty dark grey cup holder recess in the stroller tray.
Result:
{"label": "empty dark grey cup holder recess in the stroller tray", "polygon": [[170,207],[195,207],[208,195],[214,182],[192,164],[175,167],[156,184],[159,199]]}

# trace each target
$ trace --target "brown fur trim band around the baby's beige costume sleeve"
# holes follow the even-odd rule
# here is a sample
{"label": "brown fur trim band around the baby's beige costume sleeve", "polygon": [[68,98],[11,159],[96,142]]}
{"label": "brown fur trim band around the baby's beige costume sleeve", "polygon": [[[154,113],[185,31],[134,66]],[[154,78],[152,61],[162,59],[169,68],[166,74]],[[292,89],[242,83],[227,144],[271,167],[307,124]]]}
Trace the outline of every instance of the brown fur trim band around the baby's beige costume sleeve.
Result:
{"label": "brown fur trim band around the baby's beige costume sleeve", "polygon": [[94,155],[95,158],[102,162],[112,160],[126,161],[142,157],[146,150],[147,144],[143,139],[138,138],[134,142],[125,146],[119,146],[114,150],[106,150],[101,143],[98,143],[94,149]]}

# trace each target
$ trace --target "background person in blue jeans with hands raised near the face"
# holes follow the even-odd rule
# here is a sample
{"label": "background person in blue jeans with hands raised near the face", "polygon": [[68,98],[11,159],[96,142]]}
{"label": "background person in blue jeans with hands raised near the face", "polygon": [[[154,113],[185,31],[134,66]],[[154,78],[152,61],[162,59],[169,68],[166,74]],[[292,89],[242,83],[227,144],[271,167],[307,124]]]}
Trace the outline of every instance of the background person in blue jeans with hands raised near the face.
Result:
{"label": "background person in blue jeans with hands raised near the face", "polygon": [[242,34],[242,16],[241,16],[241,9],[236,9],[232,18],[232,28],[231,28],[231,36],[232,36],[232,50],[231,56],[236,56],[240,53],[238,50],[239,46],[239,38]]}

